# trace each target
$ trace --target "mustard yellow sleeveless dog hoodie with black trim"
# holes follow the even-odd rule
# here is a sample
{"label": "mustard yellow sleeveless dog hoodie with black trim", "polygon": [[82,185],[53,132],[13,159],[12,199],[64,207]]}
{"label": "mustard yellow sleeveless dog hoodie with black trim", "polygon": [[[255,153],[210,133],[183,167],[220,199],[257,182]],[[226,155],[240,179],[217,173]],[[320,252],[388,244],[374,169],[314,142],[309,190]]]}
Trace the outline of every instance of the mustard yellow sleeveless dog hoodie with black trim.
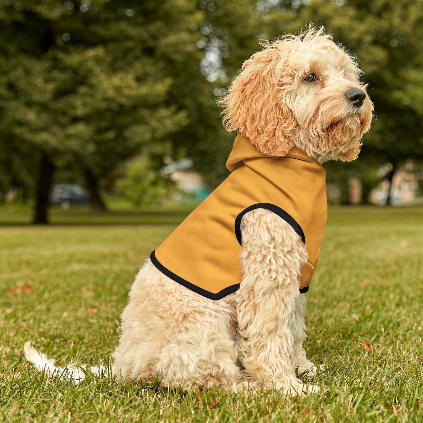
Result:
{"label": "mustard yellow sleeveless dog hoodie with black trim", "polygon": [[305,291],[327,218],[324,168],[298,148],[285,157],[266,156],[242,135],[236,137],[226,167],[228,178],[151,253],[151,261],[176,282],[220,299],[241,283],[236,217],[250,206],[268,203],[288,213],[304,233],[309,258],[301,271],[300,289]]}

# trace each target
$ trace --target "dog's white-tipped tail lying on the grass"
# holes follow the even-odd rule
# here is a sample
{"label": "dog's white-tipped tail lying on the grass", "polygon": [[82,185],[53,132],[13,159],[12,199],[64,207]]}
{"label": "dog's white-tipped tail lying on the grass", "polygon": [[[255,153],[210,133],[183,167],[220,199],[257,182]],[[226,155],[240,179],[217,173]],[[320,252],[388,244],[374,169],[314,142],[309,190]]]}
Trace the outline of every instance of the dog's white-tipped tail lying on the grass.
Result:
{"label": "dog's white-tipped tail lying on the grass", "polygon": [[[38,352],[32,345],[31,341],[25,342],[24,345],[25,358],[40,372],[57,377],[60,380],[70,379],[74,385],[82,382],[85,378],[86,365],[77,366],[70,364],[65,367],[55,366],[55,360],[47,357],[46,354]],[[91,373],[96,376],[107,376],[108,369],[103,365],[90,368]]]}

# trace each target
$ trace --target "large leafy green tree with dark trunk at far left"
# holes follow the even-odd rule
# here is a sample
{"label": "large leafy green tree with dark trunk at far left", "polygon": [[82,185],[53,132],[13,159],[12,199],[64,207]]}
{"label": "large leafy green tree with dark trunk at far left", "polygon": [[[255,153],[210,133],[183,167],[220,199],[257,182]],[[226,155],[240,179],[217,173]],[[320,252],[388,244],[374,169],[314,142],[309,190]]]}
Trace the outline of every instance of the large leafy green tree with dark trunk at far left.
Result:
{"label": "large leafy green tree with dark trunk at far left", "polygon": [[190,0],[0,6],[0,125],[38,152],[35,223],[47,223],[58,159],[77,162],[95,190],[140,149],[163,154],[168,135],[187,124],[168,99],[165,52],[199,61],[191,27],[200,22]]}

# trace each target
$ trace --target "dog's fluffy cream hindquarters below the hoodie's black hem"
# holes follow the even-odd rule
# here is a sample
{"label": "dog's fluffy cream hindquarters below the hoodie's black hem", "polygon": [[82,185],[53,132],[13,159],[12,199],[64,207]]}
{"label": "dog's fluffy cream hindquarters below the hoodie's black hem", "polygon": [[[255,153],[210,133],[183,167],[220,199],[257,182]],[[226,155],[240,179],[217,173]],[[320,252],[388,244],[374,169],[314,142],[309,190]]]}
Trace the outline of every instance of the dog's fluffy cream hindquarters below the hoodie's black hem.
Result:
{"label": "dog's fluffy cream hindquarters below the hoodie's black hem", "polygon": [[113,374],[124,382],[158,377],[162,386],[184,390],[231,389],[241,378],[234,296],[219,301],[202,297],[147,260],[122,313]]}

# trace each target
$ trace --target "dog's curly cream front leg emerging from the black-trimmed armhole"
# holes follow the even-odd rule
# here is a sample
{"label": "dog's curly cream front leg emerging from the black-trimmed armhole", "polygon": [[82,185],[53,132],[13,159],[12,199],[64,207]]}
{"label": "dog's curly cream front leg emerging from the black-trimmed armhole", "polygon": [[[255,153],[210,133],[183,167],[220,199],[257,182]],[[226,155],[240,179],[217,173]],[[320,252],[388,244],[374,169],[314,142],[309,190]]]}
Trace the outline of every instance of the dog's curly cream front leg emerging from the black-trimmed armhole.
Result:
{"label": "dog's curly cream front leg emerging from the black-trimmed armhole", "polygon": [[245,214],[241,231],[243,277],[236,313],[244,373],[252,385],[267,389],[316,392],[318,387],[304,386],[295,375],[291,332],[305,246],[286,221],[265,209]]}

